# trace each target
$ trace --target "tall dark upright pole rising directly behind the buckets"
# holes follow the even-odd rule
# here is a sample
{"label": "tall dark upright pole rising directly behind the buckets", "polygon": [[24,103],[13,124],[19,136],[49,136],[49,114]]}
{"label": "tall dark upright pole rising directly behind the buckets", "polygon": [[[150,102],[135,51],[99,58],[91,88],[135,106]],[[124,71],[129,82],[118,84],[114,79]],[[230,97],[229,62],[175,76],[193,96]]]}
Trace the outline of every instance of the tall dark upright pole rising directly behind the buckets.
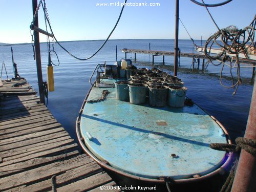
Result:
{"label": "tall dark upright pole rising directly behind the buckets", "polygon": [[174,48],[174,76],[177,76],[178,71],[178,48],[179,48],[179,0],[176,0],[176,15],[175,15],[175,48]]}

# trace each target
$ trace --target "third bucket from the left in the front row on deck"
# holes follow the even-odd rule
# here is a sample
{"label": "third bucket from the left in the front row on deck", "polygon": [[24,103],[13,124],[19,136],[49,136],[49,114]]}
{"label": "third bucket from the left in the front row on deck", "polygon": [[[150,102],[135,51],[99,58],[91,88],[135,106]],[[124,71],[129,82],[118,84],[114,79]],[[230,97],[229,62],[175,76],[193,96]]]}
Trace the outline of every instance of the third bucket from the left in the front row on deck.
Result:
{"label": "third bucket from the left in the front row on deck", "polygon": [[168,88],[165,86],[149,86],[150,92],[150,105],[151,106],[165,106],[168,94]]}

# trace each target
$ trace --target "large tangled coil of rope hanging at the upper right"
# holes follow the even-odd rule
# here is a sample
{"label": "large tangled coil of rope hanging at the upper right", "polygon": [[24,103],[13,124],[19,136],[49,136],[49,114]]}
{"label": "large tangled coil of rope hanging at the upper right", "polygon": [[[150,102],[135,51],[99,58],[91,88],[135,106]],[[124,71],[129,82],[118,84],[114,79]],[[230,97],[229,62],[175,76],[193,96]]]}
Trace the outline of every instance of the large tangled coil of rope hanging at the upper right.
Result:
{"label": "large tangled coil of rope hanging at the upper right", "polygon": [[[256,15],[254,16],[251,24],[245,27],[244,29],[239,30],[236,26],[228,26],[224,29],[220,29],[217,23],[215,22],[214,18],[212,17],[212,15],[210,14],[203,0],[202,0],[202,3],[205,6],[205,9],[207,10],[209,16],[211,17],[212,22],[214,22],[215,26],[218,29],[218,31],[213,35],[211,35],[205,42],[204,54],[213,65],[215,66],[222,65],[221,74],[220,74],[220,83],[222,86],[224,86],[224,84],[222,83],[222,74],[223,74],[224,66],[227,65],[230,67],[232,86],[224,86],[224,87],[234,88],[235,89],[233,92],[233,95],[234,95],[236,94],[239,85],[242,84],[239,54],[243,53],[245,57],[248,58],[247,49],[249,47],[253,47],[255,49],[256,41],[254,42],[254,31],[255,31],[255,24],[256,24]],[[218,40],[221,40],[221,43],[219,43]],[[211,55],[211,49],[212,49],[212,46],[214,45],[222,49],[222,52],[216,56]],[[227,53],[236,55],[236,62],[234,63],[233,67],[232,67],[232,59],[229,56],[227,56]],[[218,64],[214,64],[212,62],[213,60],[221,60],[221,61]],[[225,63],[226,61],[229,61],[229,64]],[[238,80],[236,83],[234,83],[234,80],[233,80],[232,68],[237,68]]]}

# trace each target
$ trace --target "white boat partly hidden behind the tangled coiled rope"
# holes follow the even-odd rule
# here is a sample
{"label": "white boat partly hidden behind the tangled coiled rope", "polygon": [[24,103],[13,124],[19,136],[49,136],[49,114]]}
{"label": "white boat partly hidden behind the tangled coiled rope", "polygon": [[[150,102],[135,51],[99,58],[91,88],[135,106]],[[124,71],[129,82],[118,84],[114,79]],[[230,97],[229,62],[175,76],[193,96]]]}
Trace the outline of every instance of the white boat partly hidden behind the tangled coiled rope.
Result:
{"label": "white boat partly hidden behind the tangled coiled rope", "polygon": [[[204,54],[205,48],[204,48],[204,47],[197,46],[197,47],[195,48],[195,50],[196,50],[197,52],[199,52],[199,53],[203,53],[203,54]],[[223,52],[223,50],[222,50],[222,49],[215,49],[215,48],[211,48],[211,49],[207,48],[207,52],[208,52],[208,53],[212,53],[212,54],[218,55],[218,54],[221,54],[221,53]],[[226,55],[231,56],[231,57],[233,57],[233,58],[236,58],[236,54],[231,54],[231,53],[226,52]],[[247,49],[247,55],[245,55],[245,54],[242,52],[242,53],[239,53],[239,54],[238,54],[238,57],[239,57],[239,58],[242,58],[242,59],[249,59],[249,60],[256,61],[256,51],[255,51],[255,49],[254,49],[253,47],[249,47],[249,48]]]}

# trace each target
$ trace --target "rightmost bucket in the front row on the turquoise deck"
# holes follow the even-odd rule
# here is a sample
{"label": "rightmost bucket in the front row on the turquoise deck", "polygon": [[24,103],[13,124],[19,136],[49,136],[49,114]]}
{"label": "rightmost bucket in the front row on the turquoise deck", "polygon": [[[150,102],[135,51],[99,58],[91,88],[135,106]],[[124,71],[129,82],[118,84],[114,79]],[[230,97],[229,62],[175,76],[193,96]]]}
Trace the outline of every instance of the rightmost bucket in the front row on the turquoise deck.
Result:
{"label": "rightmost bucket in the front row on the turquoise deck", "polygon": [[174,108],[181,108],[184,106],[186,98],[186,87],[168,86],[168,105]]}

